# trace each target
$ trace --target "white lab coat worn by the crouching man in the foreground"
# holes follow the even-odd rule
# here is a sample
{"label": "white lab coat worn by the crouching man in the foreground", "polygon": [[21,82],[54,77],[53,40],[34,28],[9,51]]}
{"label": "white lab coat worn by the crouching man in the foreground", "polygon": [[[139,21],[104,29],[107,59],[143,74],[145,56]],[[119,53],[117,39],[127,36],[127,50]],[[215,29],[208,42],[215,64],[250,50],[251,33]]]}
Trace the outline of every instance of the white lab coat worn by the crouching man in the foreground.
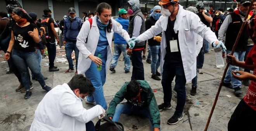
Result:
{"label": "white lab coat worn by the crouching man in the foreground", "polygon": [[49,91],[38,104],[30,131],[86,131],[85,123],[102,113],[100,105],[86,110],[64,83]]}

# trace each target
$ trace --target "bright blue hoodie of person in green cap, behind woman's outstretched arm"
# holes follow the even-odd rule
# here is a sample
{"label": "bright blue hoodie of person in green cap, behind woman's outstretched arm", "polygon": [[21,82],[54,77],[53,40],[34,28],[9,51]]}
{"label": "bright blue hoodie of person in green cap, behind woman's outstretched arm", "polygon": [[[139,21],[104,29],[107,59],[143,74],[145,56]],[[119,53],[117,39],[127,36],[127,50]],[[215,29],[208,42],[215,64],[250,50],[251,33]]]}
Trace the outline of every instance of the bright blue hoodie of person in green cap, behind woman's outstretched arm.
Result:
{"label": "bright blue hoodie of person in green cap, behind woman's outstretched arm", "polygon": [[[124,30],[128,31],[129,20],[122,17],[118,17],[115,20],[123,26]],[[114,33],[114,44],[126,44],[126,40],[120,34]]]}

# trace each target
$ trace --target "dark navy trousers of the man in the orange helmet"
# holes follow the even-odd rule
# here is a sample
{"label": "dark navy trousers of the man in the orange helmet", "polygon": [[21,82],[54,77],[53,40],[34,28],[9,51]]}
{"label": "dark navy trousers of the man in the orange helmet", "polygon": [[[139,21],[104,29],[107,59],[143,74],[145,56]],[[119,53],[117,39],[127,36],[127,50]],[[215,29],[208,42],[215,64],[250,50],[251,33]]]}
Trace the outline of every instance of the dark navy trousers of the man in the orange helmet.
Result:
{"label": "dark navy trousers of the man in the orange helmet", "polygon": [[186,102],[186,77],[182,64],[173,64],[165,60],[163,66],[162,86],[164,91],[164,103],[171,104],[171,82],[175,77],[175,91],[177,92],[177,106],[174,114],[181,115]]}

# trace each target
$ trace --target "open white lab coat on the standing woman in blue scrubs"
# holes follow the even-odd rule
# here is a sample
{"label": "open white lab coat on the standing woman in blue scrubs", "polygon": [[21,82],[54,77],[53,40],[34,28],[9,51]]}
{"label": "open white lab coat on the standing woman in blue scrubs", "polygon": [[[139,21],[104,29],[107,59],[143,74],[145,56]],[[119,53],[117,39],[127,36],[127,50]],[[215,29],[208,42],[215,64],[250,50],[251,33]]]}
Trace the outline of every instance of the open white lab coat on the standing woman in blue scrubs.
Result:
{"label": "open white lab coat on the standing woman in blue scrubs", "polygon": [[[126,32],[126,30],[123,29],[122,25],[116,22],[114,19],[111,19],[112,21],[112,30],[111,33],[108,33],[106,31],[107,41],[109,42],[109,46],[107,47],[107,61],[106,61],[106,74],[107,70],[109,68],[109,63],[112,59],[112,49],[111,49],[111,43],[112,43],[112,37],[114,32],[120,34],[126,41],[130,39],[130,36]],[[88,37],[88,41],[86,42],[86,38]],[[96,16],[92,18],[92,28],[90,29],[90,22],[86,20],[82,28],[76,37],[76,47],[79,50],[79,57],[78,57],[78,74],[84,74],[89,67],[91,66],[92,60],[88,58],[90,54],[94,55],[95,50],[97,48],[97,44],[99,41],[100,33],[99,28],[97,26],[96,22]]]}

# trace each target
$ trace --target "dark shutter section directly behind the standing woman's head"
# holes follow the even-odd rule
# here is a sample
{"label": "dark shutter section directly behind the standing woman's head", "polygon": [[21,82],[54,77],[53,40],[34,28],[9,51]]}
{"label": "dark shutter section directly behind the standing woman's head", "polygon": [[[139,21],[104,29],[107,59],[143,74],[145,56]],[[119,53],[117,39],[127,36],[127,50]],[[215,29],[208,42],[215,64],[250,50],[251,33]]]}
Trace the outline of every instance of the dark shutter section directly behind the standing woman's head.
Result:
{"label": "dark shutter section directly behind the standing woman's head", "polygon": [[[95,2],[89,2],[89,1],[83,1],[83,2],[78,2],[79,6],[79,17],[83,19],[83,12],[89,13],[89,10],[95,14],[95,10],[97,7],[97,3]],[[78,15],[78,14],[77,14]],[[96,15],[96,14],[95,14]]]}

